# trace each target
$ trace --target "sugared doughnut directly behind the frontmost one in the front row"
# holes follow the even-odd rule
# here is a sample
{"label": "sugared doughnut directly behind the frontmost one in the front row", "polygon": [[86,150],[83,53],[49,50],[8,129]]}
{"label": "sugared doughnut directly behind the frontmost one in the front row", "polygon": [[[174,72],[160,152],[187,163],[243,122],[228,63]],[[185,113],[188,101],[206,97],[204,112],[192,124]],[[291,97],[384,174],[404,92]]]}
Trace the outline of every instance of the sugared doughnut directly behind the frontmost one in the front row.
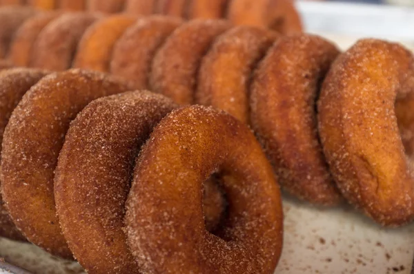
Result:
{"label": "sugared doughnut directly behind the frontmost one in the front row", "polygon": [[63,235],[88,273],[137,273],[123,231],[130,178],[152,128],[174,107],[161,95],[127,92],[93,101],[70,126],[55,199]]}

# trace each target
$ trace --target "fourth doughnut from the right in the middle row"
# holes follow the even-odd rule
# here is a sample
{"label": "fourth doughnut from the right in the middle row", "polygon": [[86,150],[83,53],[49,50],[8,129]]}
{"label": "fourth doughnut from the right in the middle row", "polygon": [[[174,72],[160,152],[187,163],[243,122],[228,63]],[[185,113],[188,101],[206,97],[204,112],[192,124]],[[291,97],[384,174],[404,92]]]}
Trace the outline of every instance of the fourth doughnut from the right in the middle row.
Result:
{"label": "fourth doughnut from the right in the middle row", "polygon": [[193,103],[201,59],[216,36],[228,28],[226,21],[199,19],[172,32],[152,61],[151,90],[181,105]]}

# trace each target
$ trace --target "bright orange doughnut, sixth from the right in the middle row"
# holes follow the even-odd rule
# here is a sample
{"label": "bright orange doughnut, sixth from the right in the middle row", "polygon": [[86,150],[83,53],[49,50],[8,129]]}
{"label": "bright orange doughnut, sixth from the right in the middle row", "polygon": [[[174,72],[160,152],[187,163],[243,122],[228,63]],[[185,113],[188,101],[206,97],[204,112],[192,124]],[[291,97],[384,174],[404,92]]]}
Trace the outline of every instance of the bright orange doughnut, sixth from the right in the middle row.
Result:
{"label": "bright orange doughnut, sixth from the right in the middle row", "polygon": [[115,43],[136,20],[131,15],[119,14],[93,23],[79,42],[73,67],[108,72]]}

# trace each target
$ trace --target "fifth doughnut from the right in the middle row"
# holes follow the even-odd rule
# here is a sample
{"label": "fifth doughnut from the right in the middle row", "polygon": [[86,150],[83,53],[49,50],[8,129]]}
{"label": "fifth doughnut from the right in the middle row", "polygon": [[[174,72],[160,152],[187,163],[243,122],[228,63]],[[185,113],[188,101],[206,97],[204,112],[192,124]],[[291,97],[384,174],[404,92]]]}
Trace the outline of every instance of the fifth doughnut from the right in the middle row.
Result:
{"label": "fifth doughnut from the right in the middle row", "polygon": [[152,59],[181,19],[152,15],[139,19],[115,44],[111,74],[126,78],[137,89],[149,88]]}

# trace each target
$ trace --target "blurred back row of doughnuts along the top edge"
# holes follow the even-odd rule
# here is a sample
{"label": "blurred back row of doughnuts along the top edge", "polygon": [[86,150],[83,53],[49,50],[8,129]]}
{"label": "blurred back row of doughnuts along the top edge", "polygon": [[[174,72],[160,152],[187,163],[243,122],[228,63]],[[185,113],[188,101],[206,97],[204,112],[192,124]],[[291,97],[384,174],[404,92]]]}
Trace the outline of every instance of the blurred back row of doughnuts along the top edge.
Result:
{"label": "blurred back row of doughnuts along the top edge", "polygon": [[[0,6],[26,5],[25,2],[1,0]],[[302,31],[301,18],[292,0],[29,0],[27,4],[44,10],[228,19],[235,25],[256,25],[286,34]]]}

